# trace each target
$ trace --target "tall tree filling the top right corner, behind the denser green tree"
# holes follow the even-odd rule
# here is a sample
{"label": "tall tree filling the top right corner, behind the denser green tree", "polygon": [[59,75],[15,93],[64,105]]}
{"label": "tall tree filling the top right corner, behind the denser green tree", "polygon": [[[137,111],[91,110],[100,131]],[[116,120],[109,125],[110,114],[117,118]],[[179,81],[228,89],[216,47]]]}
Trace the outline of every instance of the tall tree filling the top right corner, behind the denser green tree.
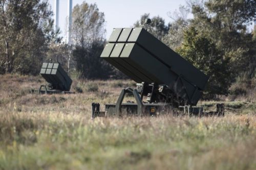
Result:
{"label": "tall tree filling the top right corner, behind the denser green tree", "polygon": [[256,2],[209,0],[204,5],[192,4],[191,7],[194,14],[191,25],[215,42],[223,58],[230,60],[228,67],[232,68],[233,80],[242,72],[252,70],[252,35],[247,25],[256,17]]}

